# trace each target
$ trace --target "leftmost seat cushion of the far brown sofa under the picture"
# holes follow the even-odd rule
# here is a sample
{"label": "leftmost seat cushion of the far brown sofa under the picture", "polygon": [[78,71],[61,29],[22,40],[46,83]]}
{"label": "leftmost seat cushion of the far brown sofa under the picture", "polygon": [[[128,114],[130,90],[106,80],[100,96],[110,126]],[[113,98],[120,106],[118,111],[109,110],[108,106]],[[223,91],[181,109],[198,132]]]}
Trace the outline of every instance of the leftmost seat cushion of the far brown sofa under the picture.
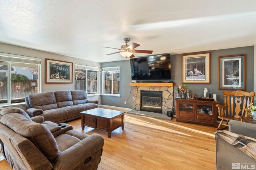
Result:
{"label": "leftmost seat cushion of the far brown sofa under the picture", "polygon": [[68,119],[68,111],[66,109],[50,109],[44,110],[44,121],[63,122]]}

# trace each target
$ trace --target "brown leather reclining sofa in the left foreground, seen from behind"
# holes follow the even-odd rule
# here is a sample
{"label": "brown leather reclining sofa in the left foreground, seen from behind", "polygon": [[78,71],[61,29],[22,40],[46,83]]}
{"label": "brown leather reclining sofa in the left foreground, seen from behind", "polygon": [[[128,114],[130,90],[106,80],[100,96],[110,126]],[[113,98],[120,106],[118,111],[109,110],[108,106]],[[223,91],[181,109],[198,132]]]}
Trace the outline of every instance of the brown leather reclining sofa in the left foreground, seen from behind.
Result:
{"label": "brown leather reclining sofa in the left foreground, seen from behind", "polygon": [[0,139],[14,170],[96,170],[104,140],[69,130],[54,137],[50,130],[19,113],[0,119]]}

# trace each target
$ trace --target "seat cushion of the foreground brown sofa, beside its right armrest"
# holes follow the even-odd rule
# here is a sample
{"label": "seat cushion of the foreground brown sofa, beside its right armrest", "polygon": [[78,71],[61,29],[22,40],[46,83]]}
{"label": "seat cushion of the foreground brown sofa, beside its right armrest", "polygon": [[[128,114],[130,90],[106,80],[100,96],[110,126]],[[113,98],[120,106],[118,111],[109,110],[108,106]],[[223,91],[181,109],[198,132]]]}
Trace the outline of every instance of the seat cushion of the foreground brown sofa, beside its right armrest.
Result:
{"label": "seat cushion of the foreground brown sofa, beside its right armrest", "polygon": [[60,152],[63,152],[64,150],[72,147],[73,145],[81,141],[80,139],[68,134],[61,134],[60,136],[57,136],[55,139],[58,144]]}

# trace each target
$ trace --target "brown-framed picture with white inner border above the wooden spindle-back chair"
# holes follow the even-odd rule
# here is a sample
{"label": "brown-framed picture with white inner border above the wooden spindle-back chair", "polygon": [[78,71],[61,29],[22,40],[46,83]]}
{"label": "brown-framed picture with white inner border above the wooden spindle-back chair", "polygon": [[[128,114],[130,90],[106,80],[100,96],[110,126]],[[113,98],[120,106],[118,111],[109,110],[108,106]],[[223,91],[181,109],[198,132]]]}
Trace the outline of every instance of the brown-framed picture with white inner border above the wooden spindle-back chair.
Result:
{"label": "brown-framed picture with white inner border above the wooden spindle-back chair", "polygon": [[219,57],[219,90],[246,90],[246,55]]}

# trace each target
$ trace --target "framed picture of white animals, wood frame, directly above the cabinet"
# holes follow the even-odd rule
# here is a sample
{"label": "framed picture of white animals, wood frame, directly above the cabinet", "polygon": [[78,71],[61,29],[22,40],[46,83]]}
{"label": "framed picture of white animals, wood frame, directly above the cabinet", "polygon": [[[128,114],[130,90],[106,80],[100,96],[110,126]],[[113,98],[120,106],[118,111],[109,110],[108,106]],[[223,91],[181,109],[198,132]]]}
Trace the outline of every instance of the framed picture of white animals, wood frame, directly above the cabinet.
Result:
{"label": "framed picture of white animals, wood frame, directly above the cabinet", "polygon": [[210,52],[182,55],[182,83],[210,84]]}

